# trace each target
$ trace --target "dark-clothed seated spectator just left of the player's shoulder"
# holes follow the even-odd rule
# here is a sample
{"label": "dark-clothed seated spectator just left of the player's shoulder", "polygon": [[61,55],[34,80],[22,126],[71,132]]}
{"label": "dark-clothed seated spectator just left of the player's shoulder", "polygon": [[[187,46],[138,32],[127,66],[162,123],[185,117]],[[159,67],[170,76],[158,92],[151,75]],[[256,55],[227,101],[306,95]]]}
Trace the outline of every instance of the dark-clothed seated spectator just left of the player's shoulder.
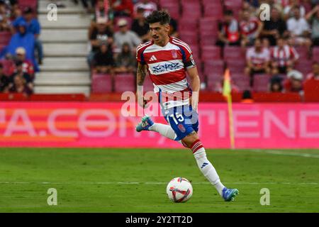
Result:
{"label": "dark-clothed seated spectator just left of the player's shoulder", "polygon": [[136,71],[135,56],[130,50],[130,45],[124,43],[122,52],[116,57],[116,69],[115,72],[133,72]]}

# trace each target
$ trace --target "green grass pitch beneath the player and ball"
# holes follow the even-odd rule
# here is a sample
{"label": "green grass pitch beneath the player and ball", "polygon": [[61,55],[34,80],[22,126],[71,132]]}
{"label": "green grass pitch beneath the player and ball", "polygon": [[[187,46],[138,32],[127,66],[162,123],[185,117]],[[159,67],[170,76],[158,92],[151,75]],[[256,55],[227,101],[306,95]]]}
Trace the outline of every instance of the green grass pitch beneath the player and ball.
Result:
{"label": "green grass pitch beneath the player and ball", "polygon": [[[319,212],[319,150],[255,151],[207,150],[222,182],[240,191],[225,202],[187,149],[1,148],[0,212]],[[174,177],[193,184],[184,204],[167,198]],[[49,188],[57,206],[47,205]]]}

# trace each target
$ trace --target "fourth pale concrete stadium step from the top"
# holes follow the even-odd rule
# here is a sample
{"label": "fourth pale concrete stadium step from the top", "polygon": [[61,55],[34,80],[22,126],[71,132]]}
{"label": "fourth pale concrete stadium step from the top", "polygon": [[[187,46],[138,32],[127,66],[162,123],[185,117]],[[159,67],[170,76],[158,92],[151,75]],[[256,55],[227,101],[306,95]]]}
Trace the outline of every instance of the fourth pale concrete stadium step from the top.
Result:
{"label": "fourth pale concrete stadium step from the top", "polygon": [[89,53],[87,43],[45,43],[45,57],[86,57]]}

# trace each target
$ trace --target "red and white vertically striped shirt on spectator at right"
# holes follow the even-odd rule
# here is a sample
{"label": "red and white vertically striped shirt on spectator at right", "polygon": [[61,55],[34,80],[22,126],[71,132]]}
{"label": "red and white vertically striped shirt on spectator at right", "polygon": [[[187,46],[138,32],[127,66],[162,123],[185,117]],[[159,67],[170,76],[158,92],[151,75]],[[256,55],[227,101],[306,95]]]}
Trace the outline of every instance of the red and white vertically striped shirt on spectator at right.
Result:
{"label": "red and white vertically striped shirt on spectator at right", "polygon": [[289,60],[297,60],[299,58],[296,49],[289,45],[284,45],[283,48],[279,48],[278,46],[274,47],[271,55],[272,60],[278,62],[279,67],[286,66]]}

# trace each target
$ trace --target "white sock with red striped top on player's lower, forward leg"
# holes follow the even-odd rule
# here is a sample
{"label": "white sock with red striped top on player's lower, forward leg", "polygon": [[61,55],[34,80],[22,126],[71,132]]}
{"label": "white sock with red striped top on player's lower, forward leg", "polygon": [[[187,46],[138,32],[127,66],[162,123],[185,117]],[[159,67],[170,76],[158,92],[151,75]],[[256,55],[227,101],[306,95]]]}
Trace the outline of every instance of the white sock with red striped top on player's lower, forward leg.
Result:
{"label": "white sock with red striped top on player's lower, forward leg", "polygon": [[206,157],[205,148],[201,144],[200,140],[196,140],[195,143],[191,146],[191,150],[194,153],[199,170],[203,175],[208,179],[209,182],[216,188],[220,196],[223,195],[223,188],[225,187],[219,179],[219,176],[211,164],[211,162]]}

